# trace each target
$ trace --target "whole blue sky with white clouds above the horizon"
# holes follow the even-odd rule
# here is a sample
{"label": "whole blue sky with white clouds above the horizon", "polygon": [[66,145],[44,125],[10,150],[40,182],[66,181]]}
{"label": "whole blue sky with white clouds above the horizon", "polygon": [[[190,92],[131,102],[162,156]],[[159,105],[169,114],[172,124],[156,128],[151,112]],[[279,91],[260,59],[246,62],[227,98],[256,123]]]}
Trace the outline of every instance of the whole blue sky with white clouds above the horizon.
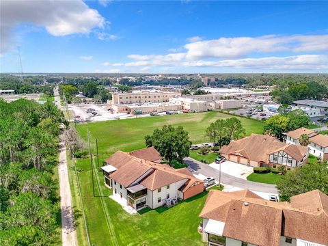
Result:
{"label": "whole blue sky with white clouds above the horizon", "polygon": [[1,1],[1,72],[328,72],[327,1]]}

